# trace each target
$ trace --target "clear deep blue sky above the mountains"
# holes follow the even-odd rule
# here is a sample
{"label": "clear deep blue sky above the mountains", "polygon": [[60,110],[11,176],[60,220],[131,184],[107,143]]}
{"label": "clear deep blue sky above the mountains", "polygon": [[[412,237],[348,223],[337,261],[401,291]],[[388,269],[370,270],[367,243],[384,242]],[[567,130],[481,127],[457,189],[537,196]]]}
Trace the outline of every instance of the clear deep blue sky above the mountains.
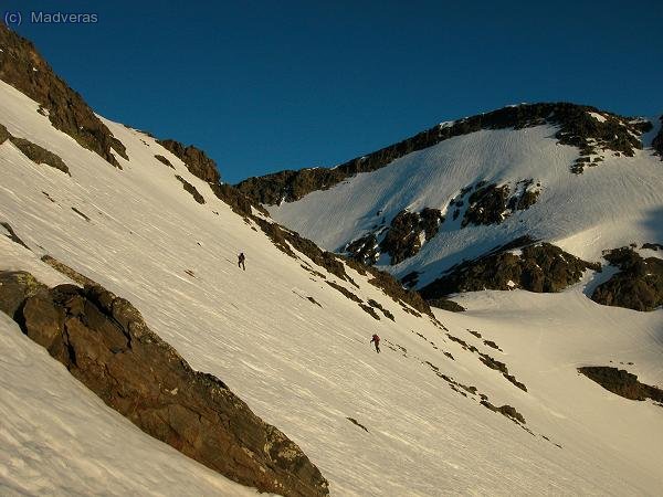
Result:
{"label": "clear deep blue sky above the mountains", "polygon": [[[97,113],[199,146],[229,182],[519,102],[663,112],[661,0],[164,3],[1,8]],[[98,22],[30,24],[31,10]]]}

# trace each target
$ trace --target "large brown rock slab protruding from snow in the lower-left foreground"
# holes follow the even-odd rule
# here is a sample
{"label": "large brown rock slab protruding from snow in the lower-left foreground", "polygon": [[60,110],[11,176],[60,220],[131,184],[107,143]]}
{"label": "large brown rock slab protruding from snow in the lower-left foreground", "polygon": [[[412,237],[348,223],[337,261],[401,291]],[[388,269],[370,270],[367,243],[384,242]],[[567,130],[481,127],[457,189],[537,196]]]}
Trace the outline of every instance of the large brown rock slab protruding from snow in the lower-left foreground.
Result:
{"label": "large brown rock slab protruding from snow in the lower-left foreground", "polygon": [[192,370],[124,298],[98,285],[49,289],[23,272],[0,273],[0,309],[146,433],[261,491],[328,495],[294,442],[221,380]]}

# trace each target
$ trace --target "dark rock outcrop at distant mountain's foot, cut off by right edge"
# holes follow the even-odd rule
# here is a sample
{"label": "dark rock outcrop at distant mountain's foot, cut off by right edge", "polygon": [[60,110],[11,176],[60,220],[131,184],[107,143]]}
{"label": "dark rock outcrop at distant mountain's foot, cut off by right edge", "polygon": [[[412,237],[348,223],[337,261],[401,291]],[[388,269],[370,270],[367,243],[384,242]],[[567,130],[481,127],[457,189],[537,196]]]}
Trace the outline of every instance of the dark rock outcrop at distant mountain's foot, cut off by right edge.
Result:
{"label": "dark rock outcrop at distant mountain's foot, cut off by right edge", "polygon": [[603,257],[620,271],[594,289],[592,300],[634,310],[654,310],[663,305],[662,260],[643,258],[631,247],[609,251]]}

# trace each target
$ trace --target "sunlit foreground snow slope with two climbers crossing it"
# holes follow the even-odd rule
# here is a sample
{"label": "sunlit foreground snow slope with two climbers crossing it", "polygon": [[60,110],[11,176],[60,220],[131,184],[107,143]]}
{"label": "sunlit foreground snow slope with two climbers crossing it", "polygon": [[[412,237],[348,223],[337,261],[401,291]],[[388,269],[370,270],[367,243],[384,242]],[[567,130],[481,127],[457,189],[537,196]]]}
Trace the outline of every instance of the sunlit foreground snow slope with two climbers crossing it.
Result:
{"label": "sunlit foreground snow slope with two climbers crossing it", "polygon": [[[40,262],[48,253],[128,298],[193,368],[221,378],[293,438],[334,495],[660,493],[663,410],[615,396],[576,368],[628,361],[642,381],[663,383],[661,310],[606,309],[579,286],[555,296],[465,296],[470,310],[440,311],[438,325],[403,311],[350,268],[359,288],[305,255],[286,256],[145,134],[104,120],[127,147],[130,160],[118,158],[118,170],[36,108],[0,83],[0,123],[57,154],[72,176],[34,165],[10,142],[0,146],[0,221],[31,248],[0,236],[0,269],[63,281]],[[558,154],[561,168],[570,151]],[[207,203],[196,203],[175,173]],[[449,190],[461,186],[459,179]],[[240,251],[246,272],[236,267]],[[326,281],[379,302],[394,321],[373,319]],[[8,319],[0,324],[1,493],[242,495],[138,432]],[[380,355],[368,343],[373,332],[382,338]],[[504,361],[528,391],[448,334]],[[435,368],[494,405],[516,408],[532,433],[482,406],[478,394],[452,390]]]}

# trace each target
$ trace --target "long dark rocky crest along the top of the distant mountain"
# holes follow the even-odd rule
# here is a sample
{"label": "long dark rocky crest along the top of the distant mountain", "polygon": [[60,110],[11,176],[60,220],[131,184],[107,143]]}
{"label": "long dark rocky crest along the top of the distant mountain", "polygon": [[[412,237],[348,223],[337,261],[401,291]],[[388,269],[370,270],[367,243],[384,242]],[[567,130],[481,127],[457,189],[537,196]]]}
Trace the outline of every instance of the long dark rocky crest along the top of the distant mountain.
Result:
{"label": "long dark rocky crest along the top of the distant mountain", "polygon": [[[590,113],[600,114],[602,120],[596,119]],[[578,147],[581,160],[571,166],[573,172],[582,172],[587,161],[596,166],[597,161],[592,161],[590,156],[601,155],[604,150],[633,156],[635,149],[642,148],[640,135],[652,127],[649,121],[617,116],[587,105],[565,102],[522,104],[438,125],[334,169],[282,171],[249,178],[239,183],[238,188],[259,203],[275,205],[282,201],[294,202],[312,191],[328,189],[358,172],[383,168],[398,158],[449,138],[482,129],[522,129],[540,125],[557,126],[555,137],[559,142]],[[596,159],[600,157],[594,157]]]}

